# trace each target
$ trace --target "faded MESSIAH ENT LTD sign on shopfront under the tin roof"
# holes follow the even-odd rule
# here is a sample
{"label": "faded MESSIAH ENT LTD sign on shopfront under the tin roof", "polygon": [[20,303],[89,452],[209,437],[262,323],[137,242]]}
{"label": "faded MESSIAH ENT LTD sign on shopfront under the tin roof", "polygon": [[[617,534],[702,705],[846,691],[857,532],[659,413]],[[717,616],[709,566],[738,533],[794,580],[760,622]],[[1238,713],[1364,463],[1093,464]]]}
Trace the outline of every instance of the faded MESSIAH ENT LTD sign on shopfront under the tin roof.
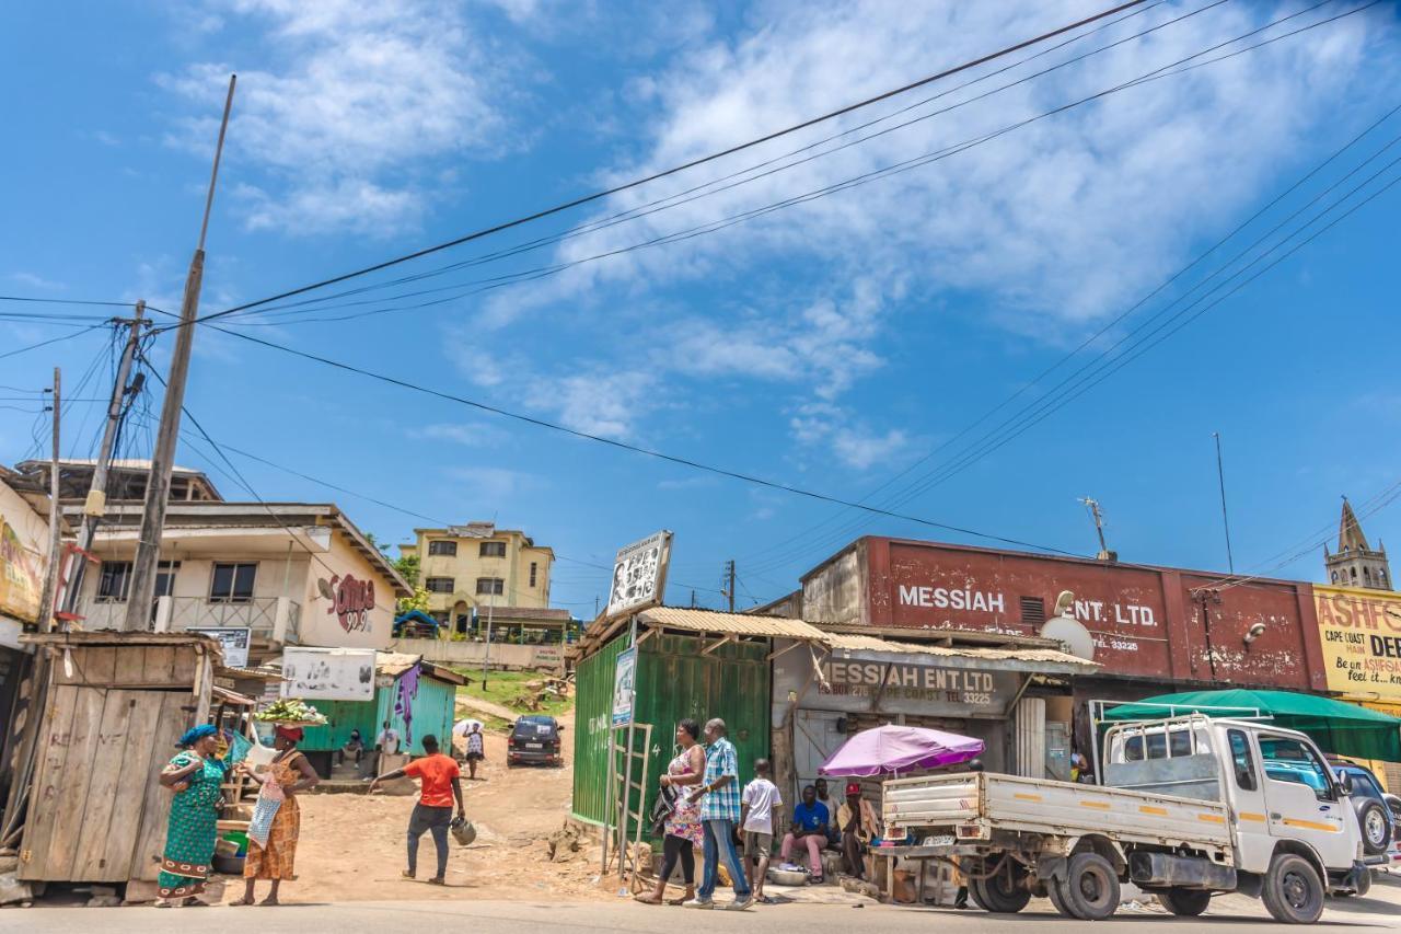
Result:
{"label": "faded MESSIAH ENT LTD sign on shopfront under the tin roof", "polygon": [[824,694],[927,701],[989,715],[1005,714],[1021,686],[1016,672],[856,659],[829,659],[824,676]]}

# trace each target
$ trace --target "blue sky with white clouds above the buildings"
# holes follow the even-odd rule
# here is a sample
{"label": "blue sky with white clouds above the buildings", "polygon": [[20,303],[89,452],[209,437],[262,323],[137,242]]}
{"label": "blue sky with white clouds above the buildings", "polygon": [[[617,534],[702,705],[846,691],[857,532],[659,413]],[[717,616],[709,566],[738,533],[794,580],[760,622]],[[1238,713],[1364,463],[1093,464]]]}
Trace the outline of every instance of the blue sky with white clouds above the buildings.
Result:
{"label": "blue sky with white clouds above the buildings", "polygon": [[[0,11],[0,76],[10,90],[0,293],[144,297],[178,309],[230,72],[240,83],[210,227],[206,311],[686,161],[1100,8],[1083,0],[906,6],[238,0],[177,13],[156,3],[8,4]],[[325,299],[325,311],[265,310],[228,324],[842,498],[871,495],[911,468],[874,494],[884,505],[937,466],[960,463],[965,445],[1044,398],[1062,374],[1401,133],[1401,115],[1393,116],[1219,254],[1111,324],[1401,104],[1393,100],[1401,62],[1395,6],[1283,36],[1362,3],[1313,6],[1156,3],[1063,48],[1038,46],[758,150],[347,283],[375,289]],[[1296,13],[1191,62],[1201,67],[723,226],[991,135]],[[1153,31],[1129,38],[1145,29]],[[1271,38],[1278,41],[1208,62]],[[1096,53],[1068,63],[1087,52]],[[1007,65],[1014,67],[989,74]],[[982,80],[962,87],[974,79]],[[1020,79],[1028,80],[971,100]],[[874,118],[888,119],[853,129]],[[842,130],[852,133],[780,158]],[[1397,151],[1377,156],[1313,210]],[[800,161],[808,154],[820,157]],[[740,175],[744,184],[706,188],[705,198],[663,202],[664,210],[516,257],[388,285],[769,160],[783,170]],[[1401,187],[898,509],[1087,554],[1097,546],[1077,498],[1093,495],[1125,560],[1224,568],[1210,438],[1220,432],[1237,568],[1272,569],[1281,553],[1321,540],[1341,494],[1366,502],[1401,480],[1393,466],[1401,453],[1398,206]],[[708,224],[720,229],[595,258]],[[531,275],[545,266],[567,268]],[[523,280],[478,290],[513,275]],[[401,297],[422,289],[440,290]],[[405,307],[448,296],[457,297]],[[391,311],[315,320],[380,309]],[[102,313],[0,309],[20,310]],[[1031,383],[1105,325],[1075,363]],[[76,330],[34,321],[0,328],[13,346]],[[97,362],[78,398],[95,397],[109,366],[105,342],[94,331],[13,356],[0,381],[32,390],[60,365],[73,387]],[[163,366],[170,342],[167,335],[153,351]],[[1007,408],[960,436],[1019,390]],[[36,415],[24,394],[7,404],[27,410],[0,408],[0,440],[14,461],[35,447]],[[857,534],[988,543],[570,439],[207,328],[196,338],[188,405],[221,443],[436,519],[495,517],[576,561],[608,564],[618,546],[672,529],[672,602],[688,600],[696,586],[702,602],[716,603],[710,590],[727,558],[738,561],[744,606],[792,589],[797,574]],[[85,456],[92,447],[95,408],[78,401],[69,410],[66,449]],[[146,456],[147,439],[149,429],[136,426],[123,452]],[[425,524],[231,457],[265,499],[332,499],[392,541]],[[179,460],[209,468],[226,495],[240,495],[203,445],[182,446]],[[1397,519],[1380,509],[1363,522],[1373,537],[1387,537]],[[1309,550],[1278,572],[1313,579],[1320,565]],[[587,616],[605,583],[605,574],[560,561],[555,597]]]}

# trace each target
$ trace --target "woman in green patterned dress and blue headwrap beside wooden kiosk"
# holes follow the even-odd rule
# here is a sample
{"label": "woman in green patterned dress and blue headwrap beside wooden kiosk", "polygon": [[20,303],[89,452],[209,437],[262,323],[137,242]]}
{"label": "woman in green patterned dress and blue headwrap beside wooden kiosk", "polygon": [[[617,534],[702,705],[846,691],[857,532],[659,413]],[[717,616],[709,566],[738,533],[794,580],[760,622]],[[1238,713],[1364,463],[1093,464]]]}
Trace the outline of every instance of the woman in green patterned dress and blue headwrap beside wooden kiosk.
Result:
{"label": "woman in green patterned dress and blue headwrap beside wooden kiosk", "polygon": [[205,891],[219,836],[219,787],[224,781],[224,766],[214,757],[219,731],[195,726],[177,745],[184,752],[171,759],[160,777],[161,785],[175,792],[157,879],[160,907],[205,905],[196,896]]}

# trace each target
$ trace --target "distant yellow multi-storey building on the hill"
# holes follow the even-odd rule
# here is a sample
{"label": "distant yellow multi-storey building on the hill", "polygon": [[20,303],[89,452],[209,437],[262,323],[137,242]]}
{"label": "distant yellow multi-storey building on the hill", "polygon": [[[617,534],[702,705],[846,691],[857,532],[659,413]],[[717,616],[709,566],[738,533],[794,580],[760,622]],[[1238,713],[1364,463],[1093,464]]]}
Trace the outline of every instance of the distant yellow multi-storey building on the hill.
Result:
{"label": "distant yellow multi-storey building on the hill", "polygon": [[[419,557],[419,586],[429,613],[454,630],[471,624],[472,610],[545,609],[555,553],[516,529],[472,522],[447,529],[415,529],[416,541],[399,546]],[[567,616],[567,614],[566,614]]]}

